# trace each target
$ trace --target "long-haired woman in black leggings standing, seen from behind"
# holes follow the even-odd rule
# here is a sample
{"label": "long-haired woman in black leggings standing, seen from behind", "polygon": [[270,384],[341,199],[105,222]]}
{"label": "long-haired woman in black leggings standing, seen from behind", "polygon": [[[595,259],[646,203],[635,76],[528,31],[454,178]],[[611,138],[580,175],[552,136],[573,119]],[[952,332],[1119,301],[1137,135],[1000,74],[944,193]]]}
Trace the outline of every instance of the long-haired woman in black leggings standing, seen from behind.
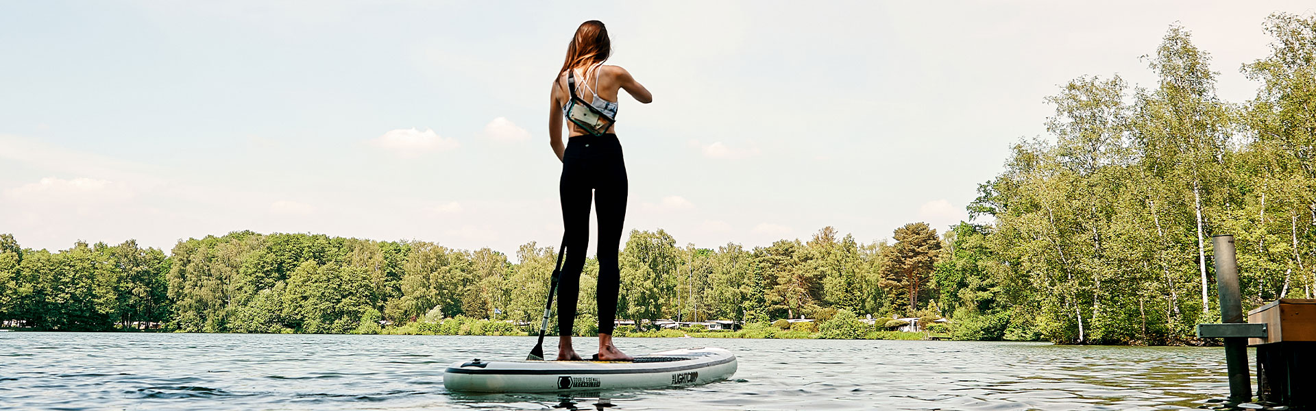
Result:
{"label": "long-haired woman in black leggings standing, seen from behind", "polygon": [[[580,24],[567,58],[553,82],[549,105],[549,141],[562,161],[558,195],[562,199],[562,224],[566,258],[558,285],[558,360],[582,360],[571,348],[576,298],[584,250],[590,244],[590,203],[599,215],[599,360],[630,360],[612,345],[613,319],[617,315],[617,292],[621,271],[617,248],[621,223],[626,216],[626,165],[617,141],[617,92],[625,90],[640,103],[653,101],[653,95],[640,86],[630,72],[617,66],[604,66],[612,54],[612,42],[603,22]],[[563,119],[570,137],[562,144]]]}

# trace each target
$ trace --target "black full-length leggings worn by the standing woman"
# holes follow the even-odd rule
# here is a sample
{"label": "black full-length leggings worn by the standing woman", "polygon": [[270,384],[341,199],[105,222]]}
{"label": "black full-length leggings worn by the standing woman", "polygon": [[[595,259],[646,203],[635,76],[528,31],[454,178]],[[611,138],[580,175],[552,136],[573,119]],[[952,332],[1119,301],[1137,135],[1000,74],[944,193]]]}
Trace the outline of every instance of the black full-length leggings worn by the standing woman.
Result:
{"label": "black full-length leggings worn by the standing woman", "polygon": [[558,283],[558,332],[570,335],[575,324],[580,271],[590,245],[590,202],[599,213],[599,333],[612,335],[617,316],[621,273],[617,248],[621,221],[626,217],[626,163],[621,159],[617,134],[570,137],[562,155],[562,225],[566,228],[567,256]]}

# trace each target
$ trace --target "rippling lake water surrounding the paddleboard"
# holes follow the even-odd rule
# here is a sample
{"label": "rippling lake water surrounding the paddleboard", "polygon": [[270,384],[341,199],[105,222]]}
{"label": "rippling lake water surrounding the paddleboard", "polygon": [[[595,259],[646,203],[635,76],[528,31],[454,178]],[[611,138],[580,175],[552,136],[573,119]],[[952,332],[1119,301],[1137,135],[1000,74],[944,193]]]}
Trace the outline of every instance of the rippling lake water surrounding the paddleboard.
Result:
{"label": "rippling lake water surrounding the paddleboard", "polygon": [[1219,348],[729,339],[617,339],[633,354],[736,352],[736,377],[704,386],[601,400],[443,390],[450,362],[524,358],[533,345],[533,337],[0,332],[0,408],[1179,410],[1220,406],[1229,391]]}

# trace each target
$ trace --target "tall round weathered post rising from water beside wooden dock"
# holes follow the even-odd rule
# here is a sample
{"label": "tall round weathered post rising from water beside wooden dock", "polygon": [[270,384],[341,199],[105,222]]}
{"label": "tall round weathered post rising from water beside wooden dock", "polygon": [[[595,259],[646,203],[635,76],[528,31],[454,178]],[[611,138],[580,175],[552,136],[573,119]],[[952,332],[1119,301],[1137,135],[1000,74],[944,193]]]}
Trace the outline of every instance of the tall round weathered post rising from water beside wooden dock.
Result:
{"label": "tall round weathered post rising from water beside wooden dock", "polygon": [[[1245,323],[1238,292],[1238,261],[1232,234],[1211,237],[1215,248],[1216,291],[1220,295],[1220,320]],[[1252,373],[1248,370],[1248,339],[1225,340],[1225,368],[1229,370],[1229,400],[1252,402]]]}

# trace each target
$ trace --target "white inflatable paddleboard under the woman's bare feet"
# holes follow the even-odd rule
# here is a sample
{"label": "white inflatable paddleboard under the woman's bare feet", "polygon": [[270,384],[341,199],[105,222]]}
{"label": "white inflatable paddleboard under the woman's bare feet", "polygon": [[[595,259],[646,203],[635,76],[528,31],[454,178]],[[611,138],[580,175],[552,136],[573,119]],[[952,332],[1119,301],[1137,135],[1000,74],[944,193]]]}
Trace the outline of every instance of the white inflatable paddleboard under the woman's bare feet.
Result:
{"label": "white inflatable paddleboard under the woman's bare feet", "polygon": [[663,389],[722,381],[736,374],[736,354],[690,348],[637,356],[636,361],[458,361],[443,386],[468,393]]}

